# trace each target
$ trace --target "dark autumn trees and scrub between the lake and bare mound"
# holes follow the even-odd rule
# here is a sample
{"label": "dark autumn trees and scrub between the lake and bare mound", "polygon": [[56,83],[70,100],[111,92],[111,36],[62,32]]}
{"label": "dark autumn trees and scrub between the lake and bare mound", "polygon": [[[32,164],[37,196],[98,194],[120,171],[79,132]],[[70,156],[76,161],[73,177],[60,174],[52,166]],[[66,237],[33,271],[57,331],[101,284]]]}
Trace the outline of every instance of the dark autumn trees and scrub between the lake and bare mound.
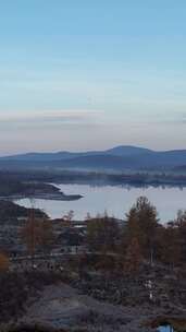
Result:
{"label": "dark autumn trees and scrub between the lake and bare mound", "polygon": [[[5,210],[7,204],[10,205]],[[59,285],[61,289],[60,283],[69,284],[72,289],[99,303],[128,308],[129,313],[122,318],[121,327],[125,327],[132,312],[136,312],[133,310],[139,308],[144,308],[139,318],[148,327],[149,321],[156,321],[159,316],[168,321],[173,317],[184,318],[185,211],[178,211],[174,221],[162,225],[157,209],[147,198],[140,197],[122,222],[107,213],[94,218],[87,215],[85,223],[76,227],[73,212],[50,221],[45,214],[24,208],[17,210],[12,204],[0,204],[3,225],[5,211],[10,226],[12,214],[20,217],[23,213],[25,217],[27,213],[28,220],[18,226],[18,244],[23,244],[23,249],[15,258],[12,258],[11,250],[3,250],[1,244],[0,323],[20,320],[30,298],[37,300],[41,289],[49,285]],[[66,247],[75,247],[75,251],[65,251]],[[94,331],[100,331],[98,321],[101,324],[102,318],[99,310],[94,316],[92,312],[82,315],[79,325],[85,327],[87,321],[87,325],[97,327]],[[108,321],[115,324],[106,317],[104,323]],[[111,331],[115,331],[114,328]]]}

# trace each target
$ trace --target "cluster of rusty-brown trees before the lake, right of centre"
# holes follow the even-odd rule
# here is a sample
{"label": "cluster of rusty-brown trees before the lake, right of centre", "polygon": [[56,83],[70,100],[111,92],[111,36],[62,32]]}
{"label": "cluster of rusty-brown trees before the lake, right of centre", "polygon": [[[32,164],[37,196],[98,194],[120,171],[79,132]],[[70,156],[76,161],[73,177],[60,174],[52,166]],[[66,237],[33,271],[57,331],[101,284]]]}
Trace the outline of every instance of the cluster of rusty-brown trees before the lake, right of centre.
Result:
{"label": "cluster of rusty-brown trees before the lake, right of centre", "polygon": [[91,252],[115,253],[123,268],[137,270],[141,262],[172,268],[186,264],[186,211],[162,225],[157,209],[140,197],[119,224],[109,216],[87,221],[87,246]]}

